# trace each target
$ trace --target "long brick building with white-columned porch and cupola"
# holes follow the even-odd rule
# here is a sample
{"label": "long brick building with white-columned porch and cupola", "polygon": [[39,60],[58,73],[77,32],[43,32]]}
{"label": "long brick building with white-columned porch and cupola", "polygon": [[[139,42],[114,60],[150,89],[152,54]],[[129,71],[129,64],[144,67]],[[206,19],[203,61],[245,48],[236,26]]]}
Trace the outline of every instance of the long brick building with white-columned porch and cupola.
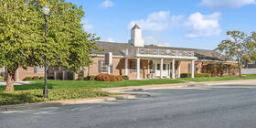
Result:
{"label": "long brick building with white-columned porch and cupola", "polygon": [[[111,73],[126,75],[133,80],[155,78],[179,78],[181,73],[205,73],[205,66],[209,63],[219,62],[229,65],[229,69],[222,72],[224,75],[233,75],[234,61],[225,61],[224,57],[216,51],[196,48],[172,48],[157,45],[144,45],[142,29],[135,25],[131,30],[131,39],[128,43],[95,42],[103,51],[93,50],[92,64],[82,70],[80,74],[69,72],[68,69],[48,68],[48,76],[54,79],[77,80],[79,77]],[[112,53],[112,66],[105,65],[105,54]],[[219,72],[218,69],[216,72]],[[17,69],[16,80],[26,77],[42,76],[44,70],[30,67],[27,70]],[[60,77],[59,77],[60,76]]]}

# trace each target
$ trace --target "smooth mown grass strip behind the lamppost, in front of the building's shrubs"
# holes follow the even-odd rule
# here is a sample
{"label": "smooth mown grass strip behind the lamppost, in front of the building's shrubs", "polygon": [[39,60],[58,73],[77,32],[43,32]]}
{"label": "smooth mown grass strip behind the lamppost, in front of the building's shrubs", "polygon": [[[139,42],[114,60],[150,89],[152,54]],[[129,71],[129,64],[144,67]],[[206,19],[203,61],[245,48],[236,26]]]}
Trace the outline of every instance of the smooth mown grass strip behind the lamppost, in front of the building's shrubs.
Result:
{"label": "smooth mown grass strip behind the lamppost, in front of the building's shrubs", "polygon": [[[97,81],[97,80],[48,80],[48,89],[69,89],[69,88],[114,88],[153,84],[167,84],[167,83],[182,83],[181,80],[123,80],[123,81]],[[34,80],[28,85],[16,85],[16,91],[26,90],[42,90],[44,87],[44,80]],[[5,87],[0,87],[0,91]]]}

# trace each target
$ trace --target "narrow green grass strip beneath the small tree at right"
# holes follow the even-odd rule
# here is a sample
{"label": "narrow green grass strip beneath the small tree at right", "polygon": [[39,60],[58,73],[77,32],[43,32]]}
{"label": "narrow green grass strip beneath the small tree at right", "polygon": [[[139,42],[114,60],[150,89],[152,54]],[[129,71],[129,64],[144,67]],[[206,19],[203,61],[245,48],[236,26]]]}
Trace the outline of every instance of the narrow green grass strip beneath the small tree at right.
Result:
{"label": "narrow green grass strip beneath the small tree at right", "polygon": [[190,81],[196,81],[196,82],[202,82],[202,81],[218,81],[218,80],[251,80],[256,79],[256,74],[250,74],[243,77],[212,77],[212,78],[182,78],[178,80],[190,80]]}

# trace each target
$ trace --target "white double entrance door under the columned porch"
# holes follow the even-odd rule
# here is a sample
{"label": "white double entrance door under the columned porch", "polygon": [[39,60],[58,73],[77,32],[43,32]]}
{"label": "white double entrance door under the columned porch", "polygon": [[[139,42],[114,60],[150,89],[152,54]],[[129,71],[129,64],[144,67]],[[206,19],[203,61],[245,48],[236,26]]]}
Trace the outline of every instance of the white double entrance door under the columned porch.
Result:
{"label": "white double entrance door under the columned porch", "polygon": [[[155,63],[155,77],[156,78],[160,78],[160,76],[161,76],[160,69],[161,69],[161,64]],[[163,64],[163,72],[162,72],[163,78],[169,78],[169,72],[170,72],[170,64],[164,63]]]}

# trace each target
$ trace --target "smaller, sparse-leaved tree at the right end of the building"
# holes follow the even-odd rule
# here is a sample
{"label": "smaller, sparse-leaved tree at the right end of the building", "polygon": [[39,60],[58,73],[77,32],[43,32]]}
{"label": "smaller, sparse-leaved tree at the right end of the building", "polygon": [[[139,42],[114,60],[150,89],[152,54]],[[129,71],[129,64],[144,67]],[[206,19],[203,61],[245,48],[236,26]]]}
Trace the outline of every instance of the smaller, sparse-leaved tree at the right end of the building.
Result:
{"label": "smaller, sparse-leaved tree at the right end of the building", "polygon": [[229,39],[222,40],[216,50],[224,53],[227,59],[235,59],[238,62],[240,77],[241,68],[244,62],[251,61],[255,55],[255,42],[251,37],[248,37],[244,32],[228,31]]}

